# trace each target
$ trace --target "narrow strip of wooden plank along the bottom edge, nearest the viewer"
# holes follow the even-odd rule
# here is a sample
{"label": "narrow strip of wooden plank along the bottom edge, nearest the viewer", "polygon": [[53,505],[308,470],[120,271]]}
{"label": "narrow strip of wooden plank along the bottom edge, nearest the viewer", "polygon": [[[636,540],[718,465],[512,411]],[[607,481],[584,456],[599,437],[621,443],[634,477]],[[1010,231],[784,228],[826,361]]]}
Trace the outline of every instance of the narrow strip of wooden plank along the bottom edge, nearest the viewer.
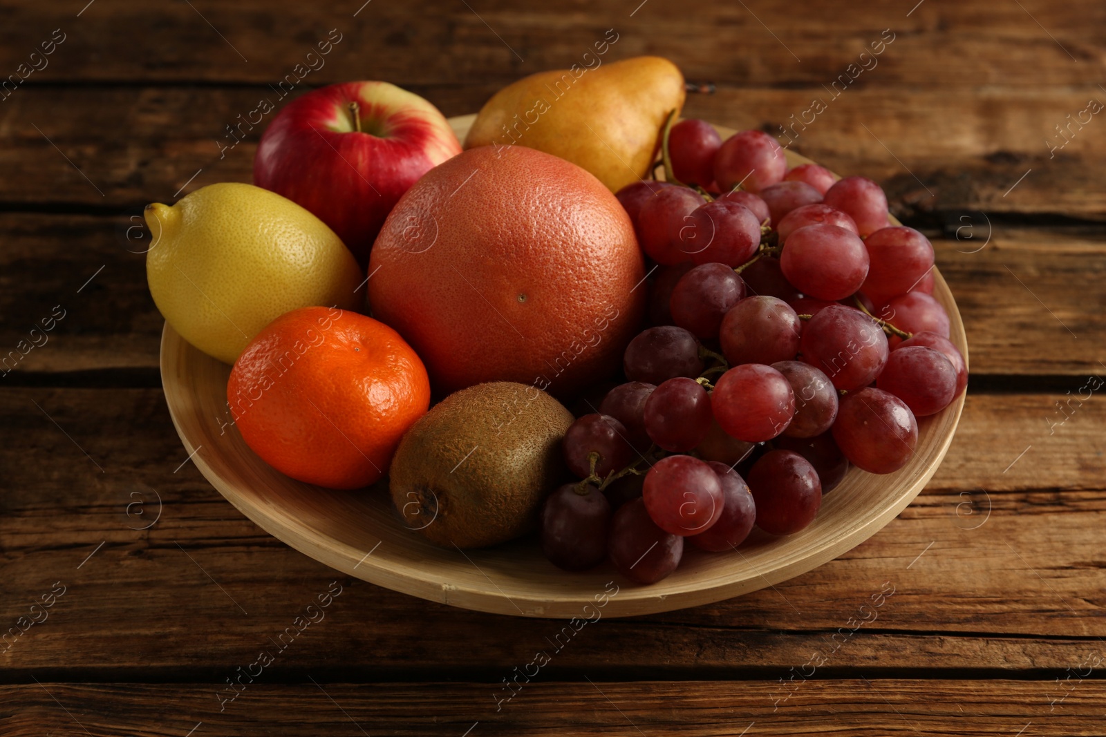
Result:
{"label": "narrow strip of wooden plank along the bottom edge, nearest the viewer", "polygon": [[[545,675],[539,673],[536,678]],[[262,671],[259,678],[267,675]],[[1073,737],[1100,734],[1106,705],[1102,681],[1074,677],[1070,695],[1053,707],[1050,701],[1064,692],[1045,680],[812,680],[781,703],[776,699],[783,692],[772,682],[541,683],[536,678],[520,681],[524,685],[517,696],[498,712],[494,699],[499,689],[505,692],[501,683],[272,685],[243,678],[239,696],[223,710],[219,684],[30,683],[0,687],[0,725],[11,737],[38,737],[50,730],[82,734],[82,728],[97,737],[827,733]]]}

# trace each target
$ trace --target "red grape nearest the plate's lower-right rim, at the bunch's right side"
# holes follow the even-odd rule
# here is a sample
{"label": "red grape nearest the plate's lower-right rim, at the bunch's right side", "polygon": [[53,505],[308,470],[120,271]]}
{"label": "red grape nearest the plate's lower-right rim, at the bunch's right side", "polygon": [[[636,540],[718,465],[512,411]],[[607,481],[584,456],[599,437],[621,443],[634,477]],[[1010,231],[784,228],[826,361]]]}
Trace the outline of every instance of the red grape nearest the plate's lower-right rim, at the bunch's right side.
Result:
{"label": "red grape nearest the plate's lower-right rim, at the bunch's right side", "polygon": [[895,394],[865,387],[841,398],[833,439],[853,465],[870,473],[891,473],[914,455],[918,421]]}

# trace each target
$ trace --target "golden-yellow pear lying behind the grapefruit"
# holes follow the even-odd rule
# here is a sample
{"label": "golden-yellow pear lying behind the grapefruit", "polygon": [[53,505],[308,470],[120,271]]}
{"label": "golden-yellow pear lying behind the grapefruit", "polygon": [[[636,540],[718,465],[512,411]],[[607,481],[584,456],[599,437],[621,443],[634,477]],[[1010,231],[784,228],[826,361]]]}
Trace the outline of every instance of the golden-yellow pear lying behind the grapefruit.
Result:
{"label": "golden-yellow pear lying behind the grapefruit", "polygon": [[591,171],[617,192],[648,173],[665,118],[679,113],[684,96],[684,75],[660,56],[539,72],[484,104],[465,148],[536,148]]}

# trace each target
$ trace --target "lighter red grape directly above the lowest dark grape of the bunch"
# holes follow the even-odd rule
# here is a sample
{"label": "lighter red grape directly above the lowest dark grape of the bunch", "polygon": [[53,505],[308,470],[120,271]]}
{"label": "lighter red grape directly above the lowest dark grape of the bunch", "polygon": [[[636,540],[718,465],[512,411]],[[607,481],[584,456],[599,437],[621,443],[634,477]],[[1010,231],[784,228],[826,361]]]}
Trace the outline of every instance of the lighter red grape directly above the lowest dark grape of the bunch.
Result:
{"label": "lighter red grape directly above the lowest dark grape of the bunch", "polygon": [[722,482],[699,459],[669,455],[645,474],[645,508],[666,533],[687,537],[706,531],[722,514]]}

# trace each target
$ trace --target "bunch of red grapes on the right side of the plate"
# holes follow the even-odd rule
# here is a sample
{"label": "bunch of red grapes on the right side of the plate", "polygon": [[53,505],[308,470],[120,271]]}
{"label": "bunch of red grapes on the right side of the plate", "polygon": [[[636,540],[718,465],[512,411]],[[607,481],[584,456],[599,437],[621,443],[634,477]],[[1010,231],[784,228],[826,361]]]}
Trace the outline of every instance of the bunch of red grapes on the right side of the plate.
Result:
{"label": "bunch of red grapes on the right side of the plate", "polygon": [[609,557],[639,583],[676,570],[685,541],[800,531],[851,465],[902,467],[917,418],[968,381],[932,245],[889,225],[876,182],[787,169],[771,136],[723,143],[702,120],[666,129],[662,152],[667,181],[617,194],[658,264],[651,327],[626,348],[626,382],[568,429],[580,481],[542,509],[552,562]]}

